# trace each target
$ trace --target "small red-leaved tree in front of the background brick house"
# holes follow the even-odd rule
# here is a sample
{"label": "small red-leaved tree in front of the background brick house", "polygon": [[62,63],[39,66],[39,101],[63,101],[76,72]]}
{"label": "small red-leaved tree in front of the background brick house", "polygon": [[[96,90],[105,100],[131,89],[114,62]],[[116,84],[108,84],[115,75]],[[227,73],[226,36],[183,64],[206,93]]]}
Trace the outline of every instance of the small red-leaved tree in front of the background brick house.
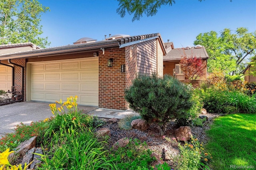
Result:
{"label": "small red-leaved tree in front of the background brick house", "polygon": [[196,80],[205,74],[205,64],[201,58],[196,56],[182,57],[180,59],[180,69],[184,71],[186,77],[192,80]]}

